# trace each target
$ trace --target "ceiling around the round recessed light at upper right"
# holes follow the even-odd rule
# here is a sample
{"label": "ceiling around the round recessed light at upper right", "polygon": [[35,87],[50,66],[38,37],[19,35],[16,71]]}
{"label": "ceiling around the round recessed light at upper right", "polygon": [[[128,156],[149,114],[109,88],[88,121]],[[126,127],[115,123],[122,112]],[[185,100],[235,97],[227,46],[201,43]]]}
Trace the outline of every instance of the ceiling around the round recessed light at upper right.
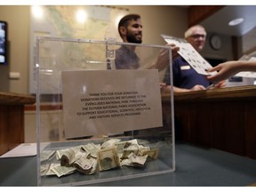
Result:
{"label": "ceiling around the round recessed light at upper right", "polygon": [[[228,26],[230,20],[244,18],[237,26]],[[256,5],[228,5],[204,19],[201,24],[208,32],[227,36],[242,36],[243,52],[256,47]]]}

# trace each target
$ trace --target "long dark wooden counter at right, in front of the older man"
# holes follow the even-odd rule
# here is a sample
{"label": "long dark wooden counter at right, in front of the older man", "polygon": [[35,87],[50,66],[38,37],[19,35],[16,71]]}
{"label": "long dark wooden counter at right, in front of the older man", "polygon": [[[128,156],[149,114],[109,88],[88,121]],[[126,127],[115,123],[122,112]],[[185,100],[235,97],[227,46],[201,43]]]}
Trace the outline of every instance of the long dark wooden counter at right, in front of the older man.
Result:
{"label": "long dark wooden counter at right, in front of the older man", "polygon": [[256,159],[256,86],[175,93],[174,116],[181,140]]}

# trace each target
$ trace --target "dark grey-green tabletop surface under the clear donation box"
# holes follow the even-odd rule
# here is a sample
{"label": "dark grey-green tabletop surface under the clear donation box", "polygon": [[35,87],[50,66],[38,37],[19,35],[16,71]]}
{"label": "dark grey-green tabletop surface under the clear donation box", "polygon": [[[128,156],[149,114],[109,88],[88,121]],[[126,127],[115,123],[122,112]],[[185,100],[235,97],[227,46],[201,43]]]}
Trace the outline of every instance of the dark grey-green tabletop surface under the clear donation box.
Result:
{"label": "dark grey-green tabletop surface under the clear donation box", "polygon": [[[36,186],[36,156],[0,159],[0,186]],[[256,160],[188,143],[176,145],[176,171],[89,186],[245,187],[256,182]]]}

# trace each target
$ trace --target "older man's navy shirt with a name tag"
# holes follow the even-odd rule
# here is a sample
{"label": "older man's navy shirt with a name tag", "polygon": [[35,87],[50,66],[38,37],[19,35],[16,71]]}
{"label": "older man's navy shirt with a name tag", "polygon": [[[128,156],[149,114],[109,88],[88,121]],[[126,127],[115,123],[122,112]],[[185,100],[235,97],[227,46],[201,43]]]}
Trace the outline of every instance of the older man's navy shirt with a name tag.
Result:
{"label": "older man's navy shirt with a name tag", "polygon": [[[198,74],[194,68],[192,68],[186,60],[182,57],[172,61],[172,75],[173,86],[191,89],[196,84],[209,86],[211,83],[205,78],[205,76]],[[164,75],[164,83],[170,83],[170,68],[168,68]]]}

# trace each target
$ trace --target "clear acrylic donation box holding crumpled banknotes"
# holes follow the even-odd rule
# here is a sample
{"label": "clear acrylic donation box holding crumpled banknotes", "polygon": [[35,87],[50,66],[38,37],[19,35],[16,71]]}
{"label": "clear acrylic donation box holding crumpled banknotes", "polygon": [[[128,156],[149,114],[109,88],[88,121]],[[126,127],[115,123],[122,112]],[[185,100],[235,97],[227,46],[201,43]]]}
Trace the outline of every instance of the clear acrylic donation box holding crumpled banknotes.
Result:
{"label": "clear acrylic donation box holding crumpled banknotes", "polygon": [[35,59],[38,186],[175,171],[169,46],[37,37]]}

